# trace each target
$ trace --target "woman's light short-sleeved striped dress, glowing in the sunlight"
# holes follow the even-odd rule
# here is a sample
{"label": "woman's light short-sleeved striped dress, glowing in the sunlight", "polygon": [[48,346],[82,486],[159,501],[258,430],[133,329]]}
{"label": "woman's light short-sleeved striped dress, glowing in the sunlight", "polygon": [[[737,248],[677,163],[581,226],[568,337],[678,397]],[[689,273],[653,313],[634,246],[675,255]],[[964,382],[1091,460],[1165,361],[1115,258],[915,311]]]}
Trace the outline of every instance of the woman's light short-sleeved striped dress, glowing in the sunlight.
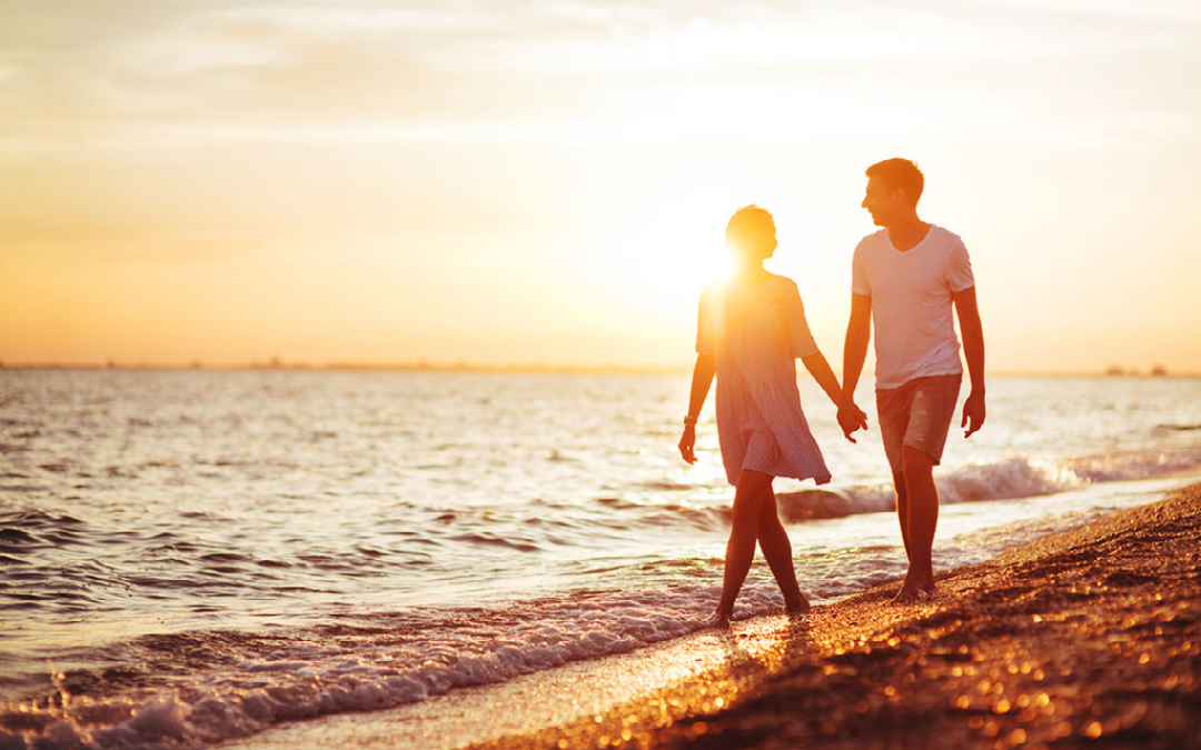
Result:
{"label": "woman's light short-sleeved striped dress, glowing in the sunlight", "polygon": [[796,358],[818,346],[791,278],[707,287],[697,353],[717,360],[717,433],[731,485],[742,469],[830,481],[796,390]]}

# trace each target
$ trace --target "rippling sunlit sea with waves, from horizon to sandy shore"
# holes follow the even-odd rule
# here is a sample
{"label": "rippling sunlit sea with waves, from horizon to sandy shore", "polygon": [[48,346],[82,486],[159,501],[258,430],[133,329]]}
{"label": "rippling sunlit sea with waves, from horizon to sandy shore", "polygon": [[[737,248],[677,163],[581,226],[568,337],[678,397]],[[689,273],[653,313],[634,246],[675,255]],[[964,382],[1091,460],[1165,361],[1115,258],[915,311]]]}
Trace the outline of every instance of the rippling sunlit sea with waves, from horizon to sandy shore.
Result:
{"label": "rippling sunlit sea with waves, from horizon to sandy shore", "polygon": [[[906,569],[871,383],[777,480],[801,589]],[[961,395],[961,402],[966,394]],[[694,631],[733,488],[687,374],[0,370],[0,749],[202,748]],[[994,377],[936,570],[1185,484],[1201,379]],[[736,618],[782,606],[761,558]],[[41,744],[40,744],[41,743]]]}

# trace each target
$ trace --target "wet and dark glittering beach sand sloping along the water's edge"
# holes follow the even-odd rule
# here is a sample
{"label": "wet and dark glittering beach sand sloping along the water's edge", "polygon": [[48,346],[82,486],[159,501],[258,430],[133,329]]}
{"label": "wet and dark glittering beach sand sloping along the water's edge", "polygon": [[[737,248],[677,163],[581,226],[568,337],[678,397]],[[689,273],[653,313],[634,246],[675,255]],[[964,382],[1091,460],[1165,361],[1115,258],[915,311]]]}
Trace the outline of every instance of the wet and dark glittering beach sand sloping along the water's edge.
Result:
{"label": "wet and dark glittering beach sand sloping along the water's edge", "polygon": [[225,748],[1201,748],[1201,485],[938,584]]}

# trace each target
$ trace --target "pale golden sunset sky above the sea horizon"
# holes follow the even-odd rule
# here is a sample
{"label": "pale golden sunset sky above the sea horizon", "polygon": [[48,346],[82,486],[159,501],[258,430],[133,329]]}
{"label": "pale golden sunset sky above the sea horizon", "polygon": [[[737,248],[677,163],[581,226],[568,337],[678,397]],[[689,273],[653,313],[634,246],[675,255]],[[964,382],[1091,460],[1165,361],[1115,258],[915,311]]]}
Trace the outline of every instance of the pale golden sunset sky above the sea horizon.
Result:
{"label": "pale golden sunset sky above the sea horizon", "polygon": [[0,361],[687,366],[737,208],[837,367],[913,158],[994,371],[1201,371],[1195,0],[0,0]]}

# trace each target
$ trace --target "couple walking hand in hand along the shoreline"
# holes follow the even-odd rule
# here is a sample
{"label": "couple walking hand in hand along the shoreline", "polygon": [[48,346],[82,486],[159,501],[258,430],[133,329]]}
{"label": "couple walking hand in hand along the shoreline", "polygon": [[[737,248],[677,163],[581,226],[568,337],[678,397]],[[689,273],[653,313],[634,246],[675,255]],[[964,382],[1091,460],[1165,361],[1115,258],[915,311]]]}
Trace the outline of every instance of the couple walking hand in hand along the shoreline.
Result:
{"label": "couple walking hand in hand along the shoreline", "polygon": [[796,284],[763,268],[776,250],[771,214],[747,206],[730,218],[725,239],[736,257],[729,284],[700,298],[697,365],[680,454],[697,461],[697,415],[717,377],[717,433],[725,475],[735,486],[725,576],[715,620],[728,624],[755,542],[791,612],[808,610],[793,568],[788,533],[776,514],[776,476],[830,481],[796,390],[796,358],[838,407],[838,426],[852,443],[867,428],[855,386],[876,325],[876,406],[884,452],[897,494],[909,571],[898,601],[934,590],[931,548],[938,523],[938,466],[950,430],[963,366],[951,307],[958,314],[970,391],[964,437],[985,419],[984,334],[975,281],[963,241],[918,217],[925,184],[916,164],[890,158],[867,169],[864,208],[883,227],[855,248],[843,382],[818,349]]}

